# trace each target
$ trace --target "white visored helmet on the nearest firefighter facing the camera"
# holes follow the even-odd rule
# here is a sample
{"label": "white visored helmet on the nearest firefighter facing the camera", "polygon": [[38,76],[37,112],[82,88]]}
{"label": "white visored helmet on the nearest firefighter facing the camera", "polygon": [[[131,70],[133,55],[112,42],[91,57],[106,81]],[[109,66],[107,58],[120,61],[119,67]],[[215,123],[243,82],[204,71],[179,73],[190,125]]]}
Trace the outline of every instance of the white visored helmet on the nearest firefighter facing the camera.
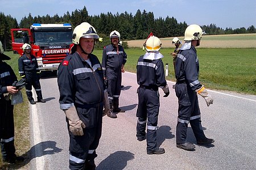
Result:
{"label": "white visored helmet on the nearest firefighter facing the camera", "polygon": [[92,25],[84,22],[77,25],[74,29],[72,42],[79,44],[80,38],[99,39],[100,37],[97,35],[96,29]]}

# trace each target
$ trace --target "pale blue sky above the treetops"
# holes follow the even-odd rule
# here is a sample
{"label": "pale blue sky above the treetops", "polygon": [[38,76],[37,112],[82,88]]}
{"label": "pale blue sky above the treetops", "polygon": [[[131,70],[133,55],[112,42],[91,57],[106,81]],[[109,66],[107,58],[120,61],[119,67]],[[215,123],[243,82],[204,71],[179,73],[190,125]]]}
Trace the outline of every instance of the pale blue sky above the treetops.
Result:
{"label": "pale blue sky above the treetops", "polygon": [[155,18],[174,16],[177,22],[187,24],[209,25],[233,29],[251,25],[256,27],[256,1],[255,0],[125,0],[125,1],[79,1],[79,0],[0,0],[0,11],[11,15],[18,23],[24,16],[63,16],[67,11],[86,6],[89,15],[101,13],[127,11],[135,15],[137,10],[153,12]]}

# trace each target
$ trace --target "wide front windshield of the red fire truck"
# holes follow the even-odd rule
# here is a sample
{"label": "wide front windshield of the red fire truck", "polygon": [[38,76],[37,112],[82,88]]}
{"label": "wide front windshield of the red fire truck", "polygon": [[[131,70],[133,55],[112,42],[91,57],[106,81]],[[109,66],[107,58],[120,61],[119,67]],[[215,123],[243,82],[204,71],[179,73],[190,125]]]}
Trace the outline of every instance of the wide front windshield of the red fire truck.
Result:
{"label": "wide front windshield of the red fire truck", "polygon": [[35,45],[72,44],[72,31],[34,32]]}

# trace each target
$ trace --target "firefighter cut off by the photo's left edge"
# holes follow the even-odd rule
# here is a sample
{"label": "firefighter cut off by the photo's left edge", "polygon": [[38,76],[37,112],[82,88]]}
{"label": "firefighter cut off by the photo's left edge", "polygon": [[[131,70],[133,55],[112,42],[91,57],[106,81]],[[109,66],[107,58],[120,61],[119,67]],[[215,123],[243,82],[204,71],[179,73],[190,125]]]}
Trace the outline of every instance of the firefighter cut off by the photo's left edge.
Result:
{"label": "firefighter cut off by the photo's left edge", "polygon": [[14,146],[14,117],[10,95],[16,94],[18,90],[12,86],[17,80],[16,75],[6,62],[10,57],[3,54],[3,46],[0,41],[0,141],[3,162],[22,162],[22,156],[16,156]]}

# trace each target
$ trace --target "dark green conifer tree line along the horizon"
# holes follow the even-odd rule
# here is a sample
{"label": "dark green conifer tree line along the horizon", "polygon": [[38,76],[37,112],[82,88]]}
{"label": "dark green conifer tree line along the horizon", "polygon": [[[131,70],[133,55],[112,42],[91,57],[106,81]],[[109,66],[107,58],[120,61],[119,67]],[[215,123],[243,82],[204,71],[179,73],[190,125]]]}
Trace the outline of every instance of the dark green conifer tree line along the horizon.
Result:
{"label": "dark green conifer tree line along the horizon", "polygon": [[[108,39],[109,33],[114,29],[121,33],[122,40],[139,40],[146,39],[150,32],[159,38],[184,36],[185,29],[188,24],[177,22],[172,16],[166,18],[155,18],[153,12],[137,10],[133,16],[128,12],[112,14],[101,13],[100,15],[91,16],[88,14],[86,7],[81,10],[72,11],[71,14],[67,11],[63,16],[55,14],[54,16],[35,16],[32,17],[31,13],[24,16],[20,23],[10,15],[5,16],[0,12],[0,40],[2,41],[5,49],[11,49],[11,28],[30,28],[33,23],[53,24],[53,23],[71,23],[75,28],[82,22],[88,22],[96,28],[97,33]],[[238,33],[256,33],[254,25],[249,28],[226,28],[222,29],[217,27],[216,24],[201,25],[203,30],[208,35],[224,35],[224,34],[238,34]],[[106,41],[105,41],[106,42]],[[108,43],[107,43],[108,44]]]}

